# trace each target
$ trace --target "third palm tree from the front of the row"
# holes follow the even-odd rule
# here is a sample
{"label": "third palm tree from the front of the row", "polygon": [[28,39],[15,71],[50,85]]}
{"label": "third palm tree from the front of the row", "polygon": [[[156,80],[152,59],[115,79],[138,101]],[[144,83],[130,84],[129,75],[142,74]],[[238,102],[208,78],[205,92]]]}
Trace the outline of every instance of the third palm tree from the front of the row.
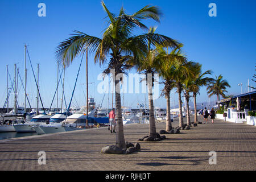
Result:
{"label": "third palm tree from the front of the row", "polygon": [[[179,46],[181,48],[182,45]],[[168,48],[166,51],[163,48],[159,48],[160,53],[163,54],[164,57],[168,56],[169,59],[162,59],[162,63],[159,67],[159,75],[162,77],[164,84],[163,92],[161,93],[161,96],[165,96],[166,98],[166,131],[172,130],[172,123],[171,123],[171,113],[170,113],[170,92],[175,87],[175,81],[173,79],[173,69],[174,64],[176,61],[179,61],[180,63],[187,62],[186,57],[182,55],[177,55],[176,49],[173,49],[170,53],[168,53]]]}

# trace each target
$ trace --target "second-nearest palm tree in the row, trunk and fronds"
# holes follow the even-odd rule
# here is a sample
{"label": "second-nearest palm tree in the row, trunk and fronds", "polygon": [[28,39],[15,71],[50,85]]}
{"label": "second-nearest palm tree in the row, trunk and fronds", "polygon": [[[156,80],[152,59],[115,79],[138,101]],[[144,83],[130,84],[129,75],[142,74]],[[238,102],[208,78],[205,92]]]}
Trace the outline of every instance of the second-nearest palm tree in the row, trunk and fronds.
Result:
{"label": "second-nearest palm tree in the row, trunk and fronds", "polygon": [[[156,127],[155,127],[155,117],[154,117],[154,103],[152,95],[152,87],[154,86],[154,74],[158,73],[158,68],[160,68],[163,61],[170,59],[171,55],[166,55],[163,51],[160,51],[160,46],[177,48],[179,43],[176,40],[167,38],[166,36],[155,34],[156,28],[150,28],[148,31],[147,39],[147,50],[144,54],[137,57],[133,61],[133,65],[137,68],[138,72],[143,72],[146,75],[146,83],[148,90],[148,107],[149,107],[149,120],[150,120],[150,137],[156,138]],[[160,38],[158,42],[155,41]],[[160,52],[159,52],[160,51]]]}

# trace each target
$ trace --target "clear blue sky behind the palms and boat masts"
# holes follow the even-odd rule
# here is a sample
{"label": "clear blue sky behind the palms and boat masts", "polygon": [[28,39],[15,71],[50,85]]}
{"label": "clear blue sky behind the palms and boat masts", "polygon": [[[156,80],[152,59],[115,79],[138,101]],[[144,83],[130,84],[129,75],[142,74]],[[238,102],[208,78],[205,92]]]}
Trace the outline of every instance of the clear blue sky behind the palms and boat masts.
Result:
{"label": "clear blue sky behind the palms and boat masts", "polygon": [[[38,16],[38,4],[46,4],[46,17]],[[106,14],[101,1],[6,1],[0,2],[1,22],[1,67],[2,73],[0,107],[6,99],[6,65],[14,77],[14,63],[18,65],[20,75],[24,78],[24,44],[28,44],[34,71],[39,63],[39,85],[45,107],[51,104],[56,89],[57,65],[55,49],[59,42],[67,39],[73,30],[101,38],[106,28]],[[203,71],[211,69],[213,76],[222,74],[232,86],[228,94],[247,92],[247,80],[250,85],[255,73],[256,57],[256,1],[104,1],[112,13],[118,13],[121,6],[126,13],[132,14],[146,5],[156,5],[162,10],[163,17],[160,23],[144,20],[148,27],[157,26],[157,32],[178,40],[184,44],[183,52],[189,60],[203,64]],[[216,3],[217,17],[210,17],[209,3]],[[134,34],[141,34],[135,31]],[[69,103],[81,57],[73,61],[66,71],[65,95]],[[28,61],[28,59],[27,59]],[[101,104],[104,94],[97,93],[97,75],[104,70],[94,64],[93,55],[89,55],[89,96]],[[30,63],[28,69],[28,97],[32,107],[36,106],[36,86]],[[134,72],[134,71],[131,71]],[[9,81],[10,82],[10,81]],[[85,61],[72,105],[86,105]],[[24,92],[19,85],[19,105],[24,102]],[[59,93],[60,96],[61,93]],[[10,105],[13,104],[13,95]],[[109,105],[112,97],[109,96]],[[201,88],[197,102],[209,101],[205,88]],[[214,97],[210,98],[211,101]],[[216,97],[215,97],[216,100]],[[172,92],[172,104],[177,104],[177,94]],[[125,94],[125,105],[137,107],[144,102],[143,94]],[[59,101],[60,103],[60,101]],[[105,96],[103,106],[107,107],[108,95]],[[156,100],[159,107],[166,107],[164,98]],[[172,105],[171,104],[171,105]],[[53,102],[56,106],[56,100]]]}

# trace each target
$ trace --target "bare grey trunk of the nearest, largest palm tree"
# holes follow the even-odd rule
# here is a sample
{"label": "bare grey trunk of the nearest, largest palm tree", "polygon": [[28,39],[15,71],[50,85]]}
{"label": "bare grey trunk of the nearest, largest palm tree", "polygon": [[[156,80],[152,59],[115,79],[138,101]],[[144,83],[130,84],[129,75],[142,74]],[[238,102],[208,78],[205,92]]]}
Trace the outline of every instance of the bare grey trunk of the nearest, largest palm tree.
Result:
{"label": "bare grey trunk of the nearest, largest palm tree", "polygon": [[117,134],[116,145],[120,148],[125,148],[125,135],[123,134],[123,119],[121,109],[121,96],[119,88],[119,80],[115,81],[115,110],[117,111]]}

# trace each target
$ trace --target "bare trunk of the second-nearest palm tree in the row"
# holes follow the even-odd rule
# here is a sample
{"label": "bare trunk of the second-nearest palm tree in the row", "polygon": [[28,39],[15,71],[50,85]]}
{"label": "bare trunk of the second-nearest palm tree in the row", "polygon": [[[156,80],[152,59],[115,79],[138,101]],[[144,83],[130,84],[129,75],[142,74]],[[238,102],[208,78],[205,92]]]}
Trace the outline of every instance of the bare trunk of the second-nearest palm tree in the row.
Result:
{"label": "bare trunk of the second-nearest palm tree in the row", "polygon": [[150,120],[150,137],[156,138],[155,116],[154,116],[154,103],[152,94],[152,81],[147,84],[148,89],[148,105],[149,105],[149,120]]}

